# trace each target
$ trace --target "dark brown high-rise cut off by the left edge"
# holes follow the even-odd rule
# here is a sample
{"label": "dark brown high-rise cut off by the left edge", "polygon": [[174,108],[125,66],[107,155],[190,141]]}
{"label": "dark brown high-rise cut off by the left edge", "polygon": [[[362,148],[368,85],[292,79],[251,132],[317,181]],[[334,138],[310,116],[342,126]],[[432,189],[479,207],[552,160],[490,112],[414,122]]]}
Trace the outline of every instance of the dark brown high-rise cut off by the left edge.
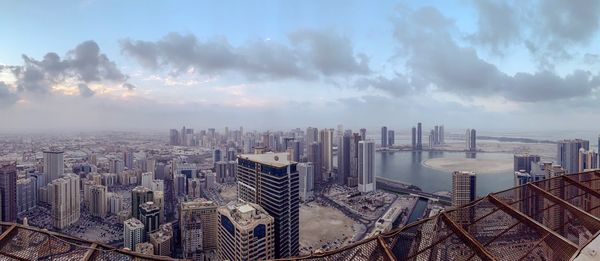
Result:
{"label": "dark brown high-rise cut off by the left edge", "polygon": [[0,162],[0,216],[17,222],[17,163]]}

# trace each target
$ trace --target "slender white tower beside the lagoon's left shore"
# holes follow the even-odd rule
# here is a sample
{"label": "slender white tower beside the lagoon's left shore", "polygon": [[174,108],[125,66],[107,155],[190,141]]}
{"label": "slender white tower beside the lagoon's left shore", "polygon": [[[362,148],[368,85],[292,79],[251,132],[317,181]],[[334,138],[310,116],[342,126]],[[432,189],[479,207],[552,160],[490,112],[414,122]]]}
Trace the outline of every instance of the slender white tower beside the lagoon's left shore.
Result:
{"label": "slender white tower beside the lagoon's left shore", "polygon": [[358,190],[375,190],[375,142],[372,140],[358,142]]}

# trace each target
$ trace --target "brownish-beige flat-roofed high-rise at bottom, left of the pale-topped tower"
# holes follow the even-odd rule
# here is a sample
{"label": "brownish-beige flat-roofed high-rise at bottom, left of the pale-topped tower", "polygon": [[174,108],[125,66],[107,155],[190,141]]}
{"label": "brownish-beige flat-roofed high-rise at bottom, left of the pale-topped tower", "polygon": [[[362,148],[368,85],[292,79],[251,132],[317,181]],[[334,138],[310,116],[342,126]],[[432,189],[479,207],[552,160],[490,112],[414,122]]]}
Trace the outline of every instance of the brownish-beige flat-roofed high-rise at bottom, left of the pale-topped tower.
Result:
{"label": "brownish-beige flat-roofed high-rise at bottom, left of the pale-topped tower", "polygon": [[217,249],[217,204],[206,199],[181,202],[179,229],[185,258]]}

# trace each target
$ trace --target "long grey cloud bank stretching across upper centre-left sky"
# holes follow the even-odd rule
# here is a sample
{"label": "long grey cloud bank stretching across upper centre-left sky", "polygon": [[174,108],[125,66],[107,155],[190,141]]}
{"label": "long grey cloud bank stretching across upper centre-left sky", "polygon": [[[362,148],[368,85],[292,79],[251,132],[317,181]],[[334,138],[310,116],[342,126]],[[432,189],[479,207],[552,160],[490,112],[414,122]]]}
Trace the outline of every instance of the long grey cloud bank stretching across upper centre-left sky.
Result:
{"label": "long grey cloud bank stretching across upper centre-left sky", "polygon": [[156,42],[124,40],[123,53],[146,68],[166,67],[180,74],[238,72],[248,78],[315,79],[319,75],[354,75],[370,72],[368,58],[355,54],[351,42],[335,33],[298,31],[291,45],[270,40],[232,46],[226,39],[199,40],[170,33]]}

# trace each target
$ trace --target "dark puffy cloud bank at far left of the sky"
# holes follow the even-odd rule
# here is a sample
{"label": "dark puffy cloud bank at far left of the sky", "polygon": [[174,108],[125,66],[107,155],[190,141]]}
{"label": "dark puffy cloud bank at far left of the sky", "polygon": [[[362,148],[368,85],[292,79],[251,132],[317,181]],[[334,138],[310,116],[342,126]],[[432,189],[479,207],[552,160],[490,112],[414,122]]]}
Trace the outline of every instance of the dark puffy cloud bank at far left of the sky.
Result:
{"label": "dark puffy cloud bank at far left of the sky", "polygon": [[125,82],[128,77],[116,64],[100,53],[98,44],[86,41],[67,52],[64,59],[56,53],[47,53],[42,60],[22,55],[23,66],[9,66],[17,79],[19,91],[48,93],[51,86],[69,80],[90,82]]}

